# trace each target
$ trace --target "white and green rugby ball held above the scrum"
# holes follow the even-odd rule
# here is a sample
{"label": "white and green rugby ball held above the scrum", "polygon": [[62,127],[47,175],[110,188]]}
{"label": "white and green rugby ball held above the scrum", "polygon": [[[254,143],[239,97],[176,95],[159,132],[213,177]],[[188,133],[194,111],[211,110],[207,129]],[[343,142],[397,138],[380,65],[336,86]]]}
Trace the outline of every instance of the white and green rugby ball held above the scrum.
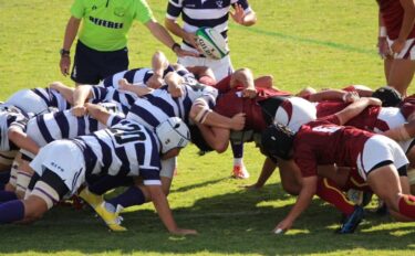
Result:
{"label": "white and green rugby ball held above the scrum", "polygon": [[206,57],[220,60],[229,54],[224,36],[212,28],[199,28],[196,31],[196,43]]}

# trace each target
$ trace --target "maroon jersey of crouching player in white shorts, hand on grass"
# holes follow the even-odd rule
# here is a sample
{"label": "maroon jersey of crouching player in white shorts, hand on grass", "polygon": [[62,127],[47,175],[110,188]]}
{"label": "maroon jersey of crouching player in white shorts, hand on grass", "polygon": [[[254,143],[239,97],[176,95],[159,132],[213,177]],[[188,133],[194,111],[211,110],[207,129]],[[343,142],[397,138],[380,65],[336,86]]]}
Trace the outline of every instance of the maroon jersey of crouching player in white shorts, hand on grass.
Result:
{"label": "maroon jersey of crouching player in white shorts, hand on grass", "polygon": [[336,124],[338,117],[329,116],[303,125],[295,135],[293,158],[303,177],[317,175],[318,166],[356,168],[357,157],[373,134]]}

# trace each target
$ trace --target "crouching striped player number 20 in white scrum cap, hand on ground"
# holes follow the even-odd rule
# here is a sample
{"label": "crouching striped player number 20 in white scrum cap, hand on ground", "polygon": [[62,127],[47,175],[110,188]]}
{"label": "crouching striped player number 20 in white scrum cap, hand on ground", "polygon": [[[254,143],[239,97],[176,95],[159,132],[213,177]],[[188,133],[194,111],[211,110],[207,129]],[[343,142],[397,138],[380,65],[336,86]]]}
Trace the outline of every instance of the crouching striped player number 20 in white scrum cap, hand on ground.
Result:
{"label": "crouching striped player number 20 in white scrum cap, hand on ground", "polygon": [[189,141],[188,128],[181,119],[169,118],[153,132],[98,106],[89,109],[100,111],[111,128],[43,147],[30,163],[35,171],[30,191],[24,200],[0,205],[0,223],[35,221],[56,202],[76,193],[90,177],[107,174],[142,178],[167,230],[173,234],[196,234],[176,225],[159,179],[160,159],[177,156]]}

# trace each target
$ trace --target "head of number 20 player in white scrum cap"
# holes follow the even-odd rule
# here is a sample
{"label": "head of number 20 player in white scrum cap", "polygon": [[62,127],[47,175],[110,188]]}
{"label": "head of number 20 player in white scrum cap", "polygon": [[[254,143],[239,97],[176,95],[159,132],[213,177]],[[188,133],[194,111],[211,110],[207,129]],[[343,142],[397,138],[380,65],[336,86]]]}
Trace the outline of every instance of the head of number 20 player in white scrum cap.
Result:
{"label": "head of number 20 player in white scrum cap", "polygon": [[156,127],[156,135],[162,142],[162,153],[174,148],[184,148],[190,141],[190,131],[178,117],[170,117]]}

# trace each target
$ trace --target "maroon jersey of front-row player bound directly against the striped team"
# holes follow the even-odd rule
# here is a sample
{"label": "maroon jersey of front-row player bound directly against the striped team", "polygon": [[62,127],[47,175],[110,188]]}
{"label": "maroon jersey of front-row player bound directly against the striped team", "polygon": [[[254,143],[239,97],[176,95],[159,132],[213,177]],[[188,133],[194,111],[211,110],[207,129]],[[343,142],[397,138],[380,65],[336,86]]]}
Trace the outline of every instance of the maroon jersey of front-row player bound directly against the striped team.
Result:
{"label": "maroon jersey of front-row player bound directly against the striped team", "polygon": [[216,99],[214,110],[226,117],[232,117],[238,113],[245,113],[246,125],[243,129],[262,131],[268,125],[263,118],[259,103],[270,97],[290,95],[288,92],[274,88],[257,87],[258,94],[256,98],[245,98],[241,95],[243,87],[238,85],[235,88],[229,88],[229,83],[230,76],[225,77],[215,86],[219,90],[219,96]]}

